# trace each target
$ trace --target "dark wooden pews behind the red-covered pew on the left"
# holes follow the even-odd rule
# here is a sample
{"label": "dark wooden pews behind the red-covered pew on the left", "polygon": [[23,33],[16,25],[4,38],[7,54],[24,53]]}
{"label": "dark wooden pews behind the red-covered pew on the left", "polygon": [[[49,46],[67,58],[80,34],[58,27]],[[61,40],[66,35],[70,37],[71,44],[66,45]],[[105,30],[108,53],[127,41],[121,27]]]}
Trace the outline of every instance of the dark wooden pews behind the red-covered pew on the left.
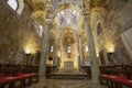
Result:
{"label": "dark wooden pews behind the red-covered pew on the left", "polygon": [[38,66],[0,64],[0,75],[16,76],[19,73],[38,73]]}

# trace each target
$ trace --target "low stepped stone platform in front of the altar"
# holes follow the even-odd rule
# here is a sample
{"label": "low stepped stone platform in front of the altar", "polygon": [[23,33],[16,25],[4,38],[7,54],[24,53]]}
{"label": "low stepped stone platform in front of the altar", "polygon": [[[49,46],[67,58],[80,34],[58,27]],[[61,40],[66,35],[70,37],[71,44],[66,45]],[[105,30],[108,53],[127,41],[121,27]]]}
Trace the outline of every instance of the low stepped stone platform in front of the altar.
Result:
{"label": "low stepped stone platform in front of the altar", "polygon": [[86,79],[88,78],[87,73],[80,72],[80,70],[58,70],[55,73],[52,73],[51,78],[54,79]]}

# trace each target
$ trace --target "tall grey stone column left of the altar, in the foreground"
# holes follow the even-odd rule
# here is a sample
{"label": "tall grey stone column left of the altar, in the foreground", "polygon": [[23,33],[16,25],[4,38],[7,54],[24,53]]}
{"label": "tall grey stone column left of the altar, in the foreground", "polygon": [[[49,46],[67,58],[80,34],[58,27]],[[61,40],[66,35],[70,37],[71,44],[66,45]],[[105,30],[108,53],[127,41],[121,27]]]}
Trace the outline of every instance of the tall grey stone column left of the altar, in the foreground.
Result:
{"label": "tall grey stone column left of the altar, in the foreground", "polygon": [[50,30],[52,25],[50,24],[44,33],[43,38],[43,45],[42,45],[42,53],[41,53],[41,59],[40,59],[40,69],[38,69],[38,76],[44,77],[46,76],[46,58],[48,53],[48,46],[50,46]]}

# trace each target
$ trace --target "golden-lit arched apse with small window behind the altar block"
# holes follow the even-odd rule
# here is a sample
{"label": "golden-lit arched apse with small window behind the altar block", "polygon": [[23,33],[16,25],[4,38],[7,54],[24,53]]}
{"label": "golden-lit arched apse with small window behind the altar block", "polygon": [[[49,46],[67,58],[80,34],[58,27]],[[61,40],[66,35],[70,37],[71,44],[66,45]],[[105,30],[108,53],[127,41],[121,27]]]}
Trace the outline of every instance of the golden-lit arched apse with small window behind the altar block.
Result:
{"label": "golden-lit arched apse with small window behind the altar block", "polygon": [[63,29],[59,41],[61,69],[66,69],[65,63],[73,63],[78,69],[78,38],[77,33],[70,28]]}

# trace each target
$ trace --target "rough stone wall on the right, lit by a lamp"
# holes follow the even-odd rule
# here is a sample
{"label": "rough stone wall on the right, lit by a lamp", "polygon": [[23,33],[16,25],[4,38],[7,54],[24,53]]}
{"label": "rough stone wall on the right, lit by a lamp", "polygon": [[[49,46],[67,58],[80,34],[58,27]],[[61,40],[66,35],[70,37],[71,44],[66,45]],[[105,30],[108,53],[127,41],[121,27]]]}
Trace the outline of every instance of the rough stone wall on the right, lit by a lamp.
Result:
{"label": "rough stone wall on the right, lit by a lamp", "polygon": [[[132,28],[132,0],[111,0],[106,7],[91,10],[90,24],[95,37],[97,53],[103,51],[106,64],[107,53],[113,52],[117,64],[131,61],[121,41],[121,33]],[[100,23],[101,33],[97,34]]]}

